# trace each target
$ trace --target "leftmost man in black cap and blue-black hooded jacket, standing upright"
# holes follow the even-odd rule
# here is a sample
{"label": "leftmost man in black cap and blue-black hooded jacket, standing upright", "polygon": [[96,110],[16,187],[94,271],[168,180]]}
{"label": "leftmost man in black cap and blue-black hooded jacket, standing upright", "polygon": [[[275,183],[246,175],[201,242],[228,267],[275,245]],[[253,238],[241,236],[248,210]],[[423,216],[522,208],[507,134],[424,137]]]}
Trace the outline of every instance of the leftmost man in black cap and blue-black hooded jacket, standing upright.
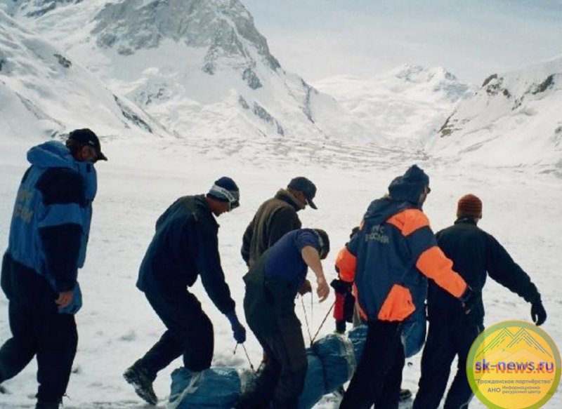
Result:
{"label": "leftmost man in black cap and blue-black hooded jacket, standing upright", "polygon": [[46,142],[27,152],[2,261],[12,337],[0,348],[0,383],[37,356],[36,408],[58,408],[65,394],[81,307],[77,281],[83,267],[96,196],[98,160],[107,160],[89,129],[66,142]]}

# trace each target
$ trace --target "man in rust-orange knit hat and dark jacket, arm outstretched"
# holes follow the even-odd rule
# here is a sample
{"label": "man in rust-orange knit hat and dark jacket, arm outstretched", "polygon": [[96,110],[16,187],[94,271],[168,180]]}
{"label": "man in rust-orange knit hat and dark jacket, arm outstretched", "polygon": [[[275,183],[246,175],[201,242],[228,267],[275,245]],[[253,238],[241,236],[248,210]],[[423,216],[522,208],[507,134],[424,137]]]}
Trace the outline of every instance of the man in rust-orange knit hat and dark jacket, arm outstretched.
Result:
{"label": "man in rust-orange knit hat and dark jacket, arm outstretched", "polygon": [[531,303],[537,326],[547,319],[540,294],[529,276],[514,262],[493,236],[479,229],[482,202],[473,194],[462,196],[455,224],[437,234],[437,242],[466,283],[475,291],[475,302],[464,314],[455,299],[429,283],[427,297],[429,331],[421,356],[421,378],[415,409],[436,409],[447,387],[451,363],[458,356],[457,375],[445,399],[445,409],[466,409],[473,394],[466,379],[466,356],[484,330],[482,289],[486,276]]}

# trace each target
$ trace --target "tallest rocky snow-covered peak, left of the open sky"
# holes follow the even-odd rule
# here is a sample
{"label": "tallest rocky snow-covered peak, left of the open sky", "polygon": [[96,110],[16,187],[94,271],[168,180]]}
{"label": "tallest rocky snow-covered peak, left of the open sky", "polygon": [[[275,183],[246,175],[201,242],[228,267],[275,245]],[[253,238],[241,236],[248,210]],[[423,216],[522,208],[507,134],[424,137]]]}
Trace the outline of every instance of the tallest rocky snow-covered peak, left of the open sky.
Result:
{"label": "tallest rocky snow-covered peak, left of the open sky", "polygon": [[287,74],[237,0],[11,1],[4,8],[185,138],[344,138],[344,110]]}

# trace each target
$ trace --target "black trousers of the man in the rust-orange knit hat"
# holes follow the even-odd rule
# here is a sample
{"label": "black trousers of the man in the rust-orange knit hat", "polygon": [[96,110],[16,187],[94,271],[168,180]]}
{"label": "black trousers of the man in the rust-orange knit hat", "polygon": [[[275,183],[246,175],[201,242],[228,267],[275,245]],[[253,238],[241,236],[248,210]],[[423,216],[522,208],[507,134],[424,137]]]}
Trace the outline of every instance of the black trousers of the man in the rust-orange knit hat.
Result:
{"label": "black trousers of the man in the rust-orange knit hat", "polygon": [[479,324],[430,323],[421,356],[421,377],[413,409],[436,409],[445,394],[451,363],[458,356],[457,375],[453,380],[445,409],[466,409],[473,396],[466,379],[466,357],[476,337],[484,330]]}

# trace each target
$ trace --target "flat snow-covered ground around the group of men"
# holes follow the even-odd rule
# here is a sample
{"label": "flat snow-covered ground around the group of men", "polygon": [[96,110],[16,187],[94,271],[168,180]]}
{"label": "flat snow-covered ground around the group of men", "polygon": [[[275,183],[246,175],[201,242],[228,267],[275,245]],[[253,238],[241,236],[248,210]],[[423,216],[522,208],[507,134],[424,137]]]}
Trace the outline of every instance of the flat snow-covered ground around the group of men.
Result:
{"label": "flat snow-covered ground around the group of men", "polygon": [[[3,142],[0,149],[0,248],[7,244],[8,227],[18,182],[26,168],[25,152],[30,140]],[[25,145],[24,145],[25,144]],[[386,192],[391,179],[418,163],[429,173],[431,195],[425,211],[434,230],[454,220],[456,202],[466,193],[477,194],[484,203],[481,227],[494,234],[542,293],[549,314],[542,328],[562,345],[559,295],[562,264],[561,180],[540,174],[532,167],[492,168],[455,166],[413,150],[381,149],[370,145],[306,140],[178,140],[105,143],[110,158],[99,163],[98,196],[94,203],[93,227],[86,267],[79,278],[84,307],[77,315],[79,348],[74,373],[67,390],[65,408],[146,408],[122,372],[161,335],[164,327],[135,287],[138,265],[152,237],[155,220],[178,196],[207,192],[222,175],[233,177],[241,189],[242,206],[219,217],[219,246],[227,281],[243,319],[244,263],[240,257],[242,233],[259,204],[285,187],[297,175],[311,178],[318,186],[318,210],[299,213],[305,227],[322,227],[331,237],[332,253],[325,260],[329,279],[337,250],[368,203]],[[498,152],[501,154],[501,152]],[[200,283],[192,289],[214,323],[216,366],[248,368],[249,363],[235,342],[227,319],[218,312]],[[333,294],[332,294],[333,297]],[[315,333],[333,298],[322,304],[307,295],[303,300]],[[488,281],[484,293],[488,325],[507,319],[530,321],[530,306],[509,290]],[[303,308],[297,314],[308,339]],[[328,319],[320,336],[334,329]],[[0,342],[8,339],[8,303],[0,295]],[[246,347],[252,363],[259,363],[261,349],[249,333]],[[407,360],[403,386],[415,391],[420,356]],[[166,406],[170,373],[181,360],[163,370],[155,382],[159,408]],[[32,408],[37,391],[35,364],[5,382],[10,391],[0,396],[0,408]],[[317,408],[336,407],[325,398]],[[483,408],[473,401],[471,408]],[[562,394],[544,406],[562,408]]]}

